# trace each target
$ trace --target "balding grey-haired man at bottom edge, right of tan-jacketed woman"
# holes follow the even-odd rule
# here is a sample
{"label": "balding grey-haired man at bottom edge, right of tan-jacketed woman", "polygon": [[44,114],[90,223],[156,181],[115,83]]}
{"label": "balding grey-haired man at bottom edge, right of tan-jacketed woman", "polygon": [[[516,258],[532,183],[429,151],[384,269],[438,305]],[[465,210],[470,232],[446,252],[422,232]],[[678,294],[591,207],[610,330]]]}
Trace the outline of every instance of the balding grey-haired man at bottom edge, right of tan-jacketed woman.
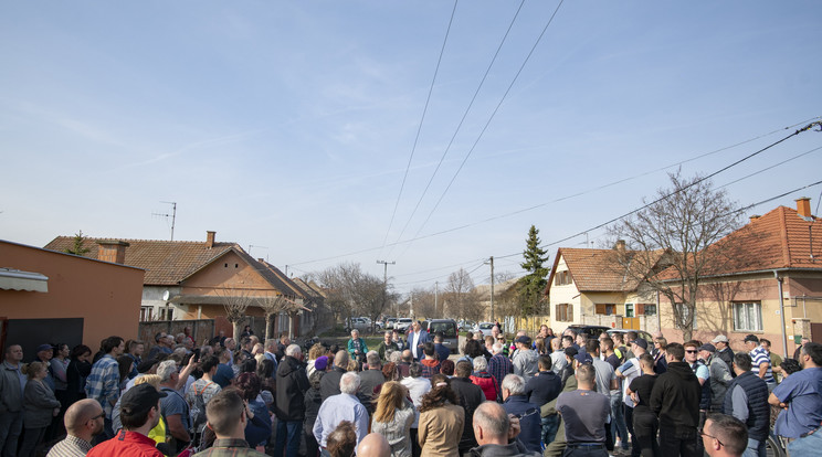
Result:
{"label": "balding grey-haired man at bottom edge, right of tan-jacketed woman", "polygon": [[[517,429],[502,405],[485,402],[474,412],[472,426],[479,444],[471,449],[471,456],[539,457],[540,453],[528,450],[519,439]],[[513,442],[512,438],[514,438]],[[510,442],[510,443],[509,443]]]}

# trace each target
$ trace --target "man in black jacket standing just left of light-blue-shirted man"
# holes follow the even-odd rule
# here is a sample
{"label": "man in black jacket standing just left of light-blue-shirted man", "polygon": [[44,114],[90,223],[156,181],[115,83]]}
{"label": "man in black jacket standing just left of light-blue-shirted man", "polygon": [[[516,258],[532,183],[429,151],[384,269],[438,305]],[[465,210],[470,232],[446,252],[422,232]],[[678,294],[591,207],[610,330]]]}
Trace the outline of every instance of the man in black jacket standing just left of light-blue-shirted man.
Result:
{"label": "man in black jacket standing just left of light-blue-shirted man", "polygon": [[303,351],[298,344],[285,349],[285,357],[280,361],[276,375],[276,398],[274,413],[277,415],[277,439],[274,455],[295,456],[299,449],[299,432],[305,419],[305,392],[308,390],[308,376],[303,364]]}

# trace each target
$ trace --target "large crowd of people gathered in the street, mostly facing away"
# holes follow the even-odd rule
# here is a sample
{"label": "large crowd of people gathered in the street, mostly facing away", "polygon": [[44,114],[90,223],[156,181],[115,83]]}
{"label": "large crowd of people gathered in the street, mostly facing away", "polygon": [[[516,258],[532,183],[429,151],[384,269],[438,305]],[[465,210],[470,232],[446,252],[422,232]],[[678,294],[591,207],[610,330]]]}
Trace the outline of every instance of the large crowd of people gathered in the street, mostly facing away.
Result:
{"label": "large crowd of people gathered in the street, mostly facing away", "polygon": [[822,344],[793,358],[755,334],[710,342],[596,338],[547,326],[468,332],[452,354],[415,321],[376,349],[304,349],[246,327],[18,344],[0,369],[0,456],[765,456],[822,449]]}

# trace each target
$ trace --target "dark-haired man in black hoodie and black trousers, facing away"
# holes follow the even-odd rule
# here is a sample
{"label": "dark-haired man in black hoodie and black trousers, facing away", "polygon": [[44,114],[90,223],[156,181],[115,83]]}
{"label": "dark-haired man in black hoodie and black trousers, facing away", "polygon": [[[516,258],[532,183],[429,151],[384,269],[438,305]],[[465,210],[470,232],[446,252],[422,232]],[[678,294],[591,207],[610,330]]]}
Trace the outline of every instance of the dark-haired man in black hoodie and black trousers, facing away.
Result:
{"label": "dark-haired man in black hoodie and black trousers, facing away", "polygon": [[651,411],[660,417],[660,455],[697,456],[702,385],[684,362],[682,344],[671,343],[665,352],[667,371],[660,374],[651,391]]}

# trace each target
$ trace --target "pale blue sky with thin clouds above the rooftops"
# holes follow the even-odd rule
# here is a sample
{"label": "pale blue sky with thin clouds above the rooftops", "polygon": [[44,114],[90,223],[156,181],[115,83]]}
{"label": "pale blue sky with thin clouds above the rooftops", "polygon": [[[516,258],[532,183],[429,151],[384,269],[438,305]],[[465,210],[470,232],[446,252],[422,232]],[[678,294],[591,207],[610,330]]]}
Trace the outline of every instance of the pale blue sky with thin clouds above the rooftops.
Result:
{"label": "pale blue sky with thin clouds above the rooftops", "polygon": [[[531,224],[562,240],[640,205],[667,166],[751,140],[682,164],[707,174],[822,115],[816,2],[567,1],[534,47],[558,3],[531,0],[457,130],[519,4],[456,6],[420,128],[451,1],[3,2],[0,238],[168,238],[151,214],[176,201],[176,240],[213,230],[297,275],[386,259],[400,290],[459,267],[481,284]],[[820,146],[804,132],[714,182]],[[813,151],[727,191],[750,204],[821,166]]]}

